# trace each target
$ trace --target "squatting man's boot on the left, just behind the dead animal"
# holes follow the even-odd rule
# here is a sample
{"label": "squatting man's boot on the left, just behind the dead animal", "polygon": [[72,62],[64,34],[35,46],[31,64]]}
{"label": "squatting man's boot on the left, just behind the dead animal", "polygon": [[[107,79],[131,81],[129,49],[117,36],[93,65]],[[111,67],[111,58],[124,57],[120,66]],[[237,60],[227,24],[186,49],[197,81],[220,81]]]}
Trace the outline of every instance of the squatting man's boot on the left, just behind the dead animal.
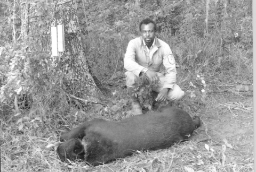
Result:
{"label": "squatting man's boot on the left, just behind the dead animal", "polygon": [[141,105],[138,97],[135,97],[135,91],[133,88],[127,88],[127,96],[131,98],[132,101],[132,114],[133,115],[141,115]]}

